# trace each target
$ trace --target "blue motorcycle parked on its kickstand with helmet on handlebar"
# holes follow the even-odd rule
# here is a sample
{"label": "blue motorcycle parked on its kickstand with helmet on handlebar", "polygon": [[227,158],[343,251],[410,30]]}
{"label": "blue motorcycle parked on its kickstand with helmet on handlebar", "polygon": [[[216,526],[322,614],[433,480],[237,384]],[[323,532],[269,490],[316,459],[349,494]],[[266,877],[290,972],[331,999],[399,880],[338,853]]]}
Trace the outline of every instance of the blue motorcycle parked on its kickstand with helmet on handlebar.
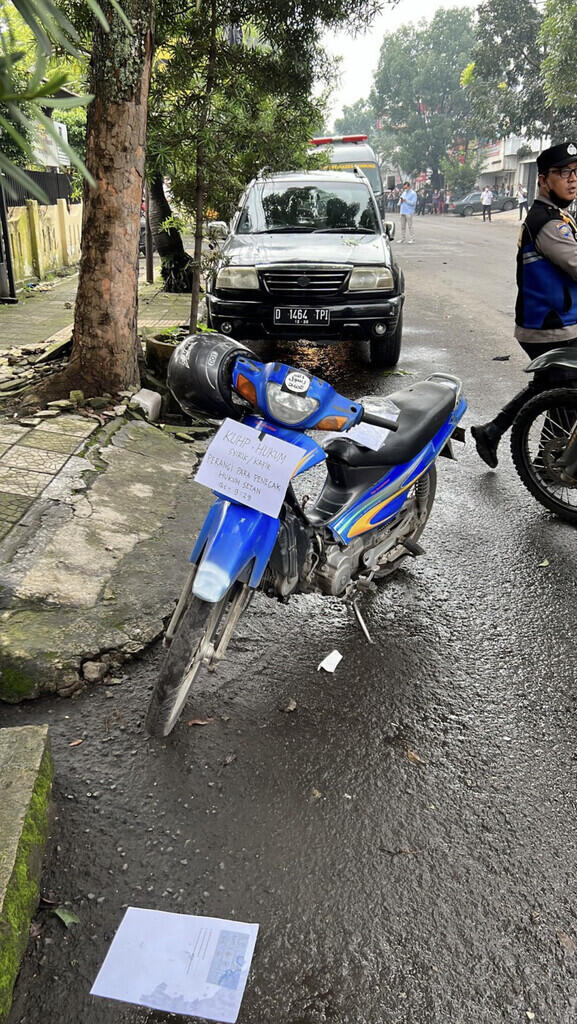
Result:
{"label": "blue motorcycle parked on its kickstand with helmet on handlebar", "polygon": [[[452,438],[464,440],[458,423],[466,410],[460,381],[450,375],[351,401],[326,381],[282,362],[259,362],[217,334],[193,335],[175,348],[168,385],[187,413],[235,421],[243,437],[253,432],[255,443],[265,439],[271,452],[280,441],[298,451],[278,514],[215,488],[165,634],[167,655],[146,723],[156,736],[174,728],[199,671],[223,656],[256,589],[283,602],[295,593],[348,599],[370,640],[357,598],[422,553],[418,540],[435,499],[436,460],[453,457]],[[322,447],[308,430],[328,430],[331,437]],[[321,463],[323,486],[305,502],[292,480]]]}

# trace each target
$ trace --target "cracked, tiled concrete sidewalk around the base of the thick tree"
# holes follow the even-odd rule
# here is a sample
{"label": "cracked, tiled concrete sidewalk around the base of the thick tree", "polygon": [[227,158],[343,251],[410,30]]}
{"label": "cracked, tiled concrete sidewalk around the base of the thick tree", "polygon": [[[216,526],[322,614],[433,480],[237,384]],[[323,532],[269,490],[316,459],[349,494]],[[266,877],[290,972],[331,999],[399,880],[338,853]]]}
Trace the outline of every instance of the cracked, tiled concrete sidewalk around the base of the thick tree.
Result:
{"label": "cracked, tiled concrete sidewalk around the base of the thick tree", "polygon": [[[75,288],[67,279],[0,305],[3,344],[64,339]],[[139,328],[179,326],[189,309],[190,295],[141,282]],[[140,649],[183,578],[208,501],[191,480],[206,427],[184,444],[115,408],[104,423],[83,409],[10,419],[0,404],[0,699],[74,692],[85,660]]]}

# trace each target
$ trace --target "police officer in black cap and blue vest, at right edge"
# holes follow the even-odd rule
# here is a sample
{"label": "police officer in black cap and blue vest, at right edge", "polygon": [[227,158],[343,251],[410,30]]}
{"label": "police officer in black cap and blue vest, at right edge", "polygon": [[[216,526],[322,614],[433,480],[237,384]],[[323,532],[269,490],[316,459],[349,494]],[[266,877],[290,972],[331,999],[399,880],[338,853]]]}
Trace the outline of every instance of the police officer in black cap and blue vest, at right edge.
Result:
{"label": "police officer in black cap and blue vest, at right edge", "polygon": [[[577,141],[544,150],[537,158],[539,191],[519,239],[514,337],[531,359],[577,344],[577,224],[566,212],[577,196]],[[470,428],[477,451],[491,469],[497,445],[536,381],[490,420]]]}

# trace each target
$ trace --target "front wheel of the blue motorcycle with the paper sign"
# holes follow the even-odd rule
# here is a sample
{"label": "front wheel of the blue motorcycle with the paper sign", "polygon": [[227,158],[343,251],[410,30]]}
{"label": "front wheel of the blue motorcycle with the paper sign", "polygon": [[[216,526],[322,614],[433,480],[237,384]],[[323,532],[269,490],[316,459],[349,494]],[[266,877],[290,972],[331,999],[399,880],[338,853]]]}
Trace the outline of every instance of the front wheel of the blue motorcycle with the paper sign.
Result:
{"label": "front wheel of the blue motorcycle with the paper sign", "polygon": [[235,583],[217,604],[189,594],[155,683],[146,729],[151,736],[168,736],[178,721],[191,686],[203,666],[215,667],[252,590]]}

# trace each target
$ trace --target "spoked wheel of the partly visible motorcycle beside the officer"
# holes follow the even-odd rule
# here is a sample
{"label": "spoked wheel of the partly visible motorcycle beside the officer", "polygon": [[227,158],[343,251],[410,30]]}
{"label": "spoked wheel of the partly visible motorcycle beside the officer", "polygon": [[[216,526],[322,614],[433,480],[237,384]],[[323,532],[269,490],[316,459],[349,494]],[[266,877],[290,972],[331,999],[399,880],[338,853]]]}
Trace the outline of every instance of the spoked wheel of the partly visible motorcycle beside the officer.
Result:
{"label": "spoked wheel of the partly visible motorcycle beside the officer", "polygon": [[558,388],[531,398],[511,430],[514,468],[525,486],[561,519],[577,524],[577,479],[557,465],[577,430],[577,390]]}

